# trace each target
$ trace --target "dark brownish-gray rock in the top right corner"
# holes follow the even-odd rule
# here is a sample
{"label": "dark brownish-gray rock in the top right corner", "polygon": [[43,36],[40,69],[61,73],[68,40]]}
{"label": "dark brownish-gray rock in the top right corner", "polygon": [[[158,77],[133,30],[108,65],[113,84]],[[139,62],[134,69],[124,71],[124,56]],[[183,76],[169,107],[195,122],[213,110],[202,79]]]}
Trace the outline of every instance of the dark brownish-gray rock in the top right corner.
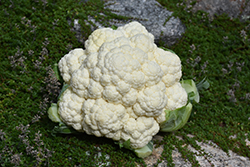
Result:
{"label": "dark brownish-gray rock in the top right corner", "polygon": [[[194,0],[187,0],[189,5]],[[198,10],[209,13],[212,20],[215,14],[228,14],[229,17],[239,18],[241,21],[250,20],[250,1],[245,0],[197,0],[192,11]]]}

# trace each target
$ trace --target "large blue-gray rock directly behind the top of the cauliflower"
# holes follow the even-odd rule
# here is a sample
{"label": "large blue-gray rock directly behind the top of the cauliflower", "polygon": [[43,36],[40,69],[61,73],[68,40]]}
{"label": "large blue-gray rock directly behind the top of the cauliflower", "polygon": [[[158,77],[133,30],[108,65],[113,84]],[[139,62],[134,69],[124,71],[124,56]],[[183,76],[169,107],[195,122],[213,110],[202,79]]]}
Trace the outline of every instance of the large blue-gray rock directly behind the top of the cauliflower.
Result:
{"label": "large blue-gray rock directly behind the top of the cauliflower", "polygon": [[[173,12],[162,7],[156,0],[108,0],[106,8],[115,14],[135,18],[155,36],[155,42],[161,39],[168,46],[176,43],[185,32],[185,27]],[[138,20],[139,19],[139,20]],[[114,20],[115,26],[122,26],[130,21]]]}

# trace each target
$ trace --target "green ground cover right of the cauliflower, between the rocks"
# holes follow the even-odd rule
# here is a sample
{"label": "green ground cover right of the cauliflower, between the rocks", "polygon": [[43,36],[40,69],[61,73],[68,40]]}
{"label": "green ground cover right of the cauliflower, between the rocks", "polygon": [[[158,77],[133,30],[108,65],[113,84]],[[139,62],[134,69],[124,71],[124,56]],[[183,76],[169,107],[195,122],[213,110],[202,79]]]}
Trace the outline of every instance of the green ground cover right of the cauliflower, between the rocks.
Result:
{"label": "green ground cover right of the cauliflower, between the rocks", "polygon": [[[210,89],[202,92],[201,102],[194,105],[190,122],[176,134],[183,137],[186,134],[195,135],[192,139],[184,139],[191,146],[196,145],[195,140],[212,140],[226,152],[233,150],[239,155],[249,157],[249,147],[245,143],[245,134],[249,134],[250,127],[250,114],[247,111],[249,98],[245,96],[250,90],[247,84],[250,75],[247,60],[250,53],[247,28],[249,22],[242,23],[226,15],[215,16],[213,21],[203,20],[202,15],[207,16],[204,12],[193,14],[183,11],[185,6],[171,5],[172,1],[160,2],[174,10],[174,14],[187,27],[179,43],[170,48],[182,60],[184,78],[191,77],[199,81],[206,76],[211,83]],[[247,36],[241,35],[242,30],[246,31]],[[191,45],[195,46],[194,50]],[[201,61],[195,63],[197,57]],[[202,68],[206,61],[207,72],[204,73]],[[227,72],[223,73],[223,69]],[[238,138],[231,139],[230,136],[233,135]],[[182,154],[189,155],[188,152]]]}

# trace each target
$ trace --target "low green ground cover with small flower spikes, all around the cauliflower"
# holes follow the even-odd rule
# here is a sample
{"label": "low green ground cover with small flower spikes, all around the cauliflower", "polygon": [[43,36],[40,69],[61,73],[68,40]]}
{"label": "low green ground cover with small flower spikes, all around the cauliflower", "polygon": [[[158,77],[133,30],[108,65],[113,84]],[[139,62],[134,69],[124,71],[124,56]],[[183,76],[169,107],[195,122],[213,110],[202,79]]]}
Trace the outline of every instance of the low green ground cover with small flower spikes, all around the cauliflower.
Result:
{"label": "low green ground cover with small flower spikes, all around the cauliflower", "polygon": [[[165,148],[162,159],[173,166],[171,152],[175,146],[186,160],[198,166],[194,153],[186,147],[190,144],[200,150],[195,140],[212,140],[225,151],[250,157],[245,143],[250,138],[250,22],[226,15],[211,21],[205,12],[185,9],[182,1],[179,5],[175,0],[159,2],[174,11],[187,28],[183,38],[170,48],[182,60],[183,78],[200,81],[207,77],[211,85],[200,92],[201,101],[194,106],[184,128],[161,133],[164,138],[158,144]],[[145,165],[132,152],[119,149],[106,138],[51,135],[56,124],[48,119],[46,111],[62,86],[53,78],[53,64],[72,48],[84,47],[67,19],[80,20],[86,40],[92,24],[86,24],[88,15],[104,20],[125,19],[103,7],[100,0],[0,1],[1,166]],[[106,16],[100,17],[100,12]],[[166,47],[161,42],[158,46]],[[236,138],[230,138],[234,135]]]}

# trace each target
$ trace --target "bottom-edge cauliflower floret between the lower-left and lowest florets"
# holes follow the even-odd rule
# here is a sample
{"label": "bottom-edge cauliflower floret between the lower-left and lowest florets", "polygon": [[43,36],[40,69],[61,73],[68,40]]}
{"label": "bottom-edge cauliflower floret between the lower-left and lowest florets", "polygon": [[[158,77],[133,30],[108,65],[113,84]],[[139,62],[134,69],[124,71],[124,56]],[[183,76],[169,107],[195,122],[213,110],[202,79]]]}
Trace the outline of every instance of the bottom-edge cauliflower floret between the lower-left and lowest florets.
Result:
{"label": "bottom-edge cauliflower floret between the lower-left and lowest florets", "polygon": [[120,140],[123,124],[129,118],[125,107],[98,99],[85,101],[82,110],[82,124],[86,133]]}

